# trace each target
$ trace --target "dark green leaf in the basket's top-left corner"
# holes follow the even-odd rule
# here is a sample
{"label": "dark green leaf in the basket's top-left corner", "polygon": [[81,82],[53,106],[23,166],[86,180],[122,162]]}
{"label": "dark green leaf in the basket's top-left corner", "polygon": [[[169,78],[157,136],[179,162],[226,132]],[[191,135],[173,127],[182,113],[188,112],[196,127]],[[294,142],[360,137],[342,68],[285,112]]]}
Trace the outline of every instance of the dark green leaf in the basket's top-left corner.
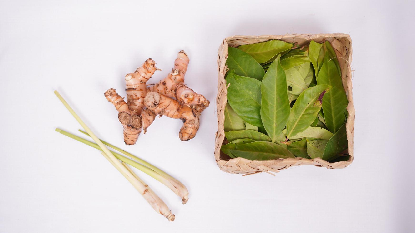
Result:
{"label": "dark green leaf in the basket's top-left corner", "polygon": [[251,77],[259,81],[265,75],[264,68],[251,55],[237,48],[228,48],[226,65],[237,75]]}

